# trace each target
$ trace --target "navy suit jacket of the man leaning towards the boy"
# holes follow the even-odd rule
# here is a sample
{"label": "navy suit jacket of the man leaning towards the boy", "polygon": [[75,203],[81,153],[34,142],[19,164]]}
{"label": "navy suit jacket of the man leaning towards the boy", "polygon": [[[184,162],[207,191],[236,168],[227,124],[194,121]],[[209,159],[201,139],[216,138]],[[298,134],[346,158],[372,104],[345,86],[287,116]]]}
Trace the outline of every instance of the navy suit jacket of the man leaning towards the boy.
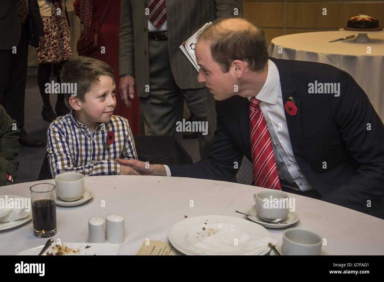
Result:
{"label": "navy suit jacket of the man leaning towards the boy", "polygon": [[[270,58],[277,66],[293,153],[321,200],[384,218],[384,126],[365,92],[328,64]],[[340,83],[339,96],[310,94],[309,83]],[[241,87],[241,86],[240,86]],[[256,95],[257,93],[255,93]],[[243,155],[252,162],[249,101],[216,102],[217,129],[209,155],[193,165],[169,166],[172,176],[231,180]],[[369,204],[370,203],[370,204]]]}

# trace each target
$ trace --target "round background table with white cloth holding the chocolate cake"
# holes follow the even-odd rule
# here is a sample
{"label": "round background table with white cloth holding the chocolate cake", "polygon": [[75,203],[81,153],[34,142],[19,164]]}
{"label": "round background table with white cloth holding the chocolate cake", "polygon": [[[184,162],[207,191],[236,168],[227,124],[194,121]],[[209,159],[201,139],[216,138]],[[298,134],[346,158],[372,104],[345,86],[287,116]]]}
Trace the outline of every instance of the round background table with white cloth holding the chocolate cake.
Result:
{"label": "round background table with white cloth holding the chocolate cake", "polygon": [[353,31],[283,35],[271,40],[268,52],[277,59],[330,64],[346,71],[367,93],[377,114],[384,120],[384,32],[368,33],[372,40],[368,43],[358,43],[354,38],[329,42],[353,34],[358,36]]}

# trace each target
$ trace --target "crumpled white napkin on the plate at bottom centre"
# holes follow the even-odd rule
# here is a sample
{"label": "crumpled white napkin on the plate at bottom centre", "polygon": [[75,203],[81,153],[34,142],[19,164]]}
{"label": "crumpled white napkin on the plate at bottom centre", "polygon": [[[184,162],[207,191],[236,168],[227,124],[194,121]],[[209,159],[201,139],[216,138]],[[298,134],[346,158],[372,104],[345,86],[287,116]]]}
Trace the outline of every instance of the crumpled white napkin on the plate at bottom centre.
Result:
{"label": "crumpled white napkin on the plate at bottom centre", "polygon": [[[235,240],[237,239],[237,240]],[[259,255],[262,252],[270,249],[268,243],[278,243],[277,240],[271,237],[254,237],[248,233],[237,231],[234,229],[225,228],[211,234],[204,240],[200,240],[196,244],[187,245],[190,249],[205,255]],[[237,243],[237,245],[235,244]]]}

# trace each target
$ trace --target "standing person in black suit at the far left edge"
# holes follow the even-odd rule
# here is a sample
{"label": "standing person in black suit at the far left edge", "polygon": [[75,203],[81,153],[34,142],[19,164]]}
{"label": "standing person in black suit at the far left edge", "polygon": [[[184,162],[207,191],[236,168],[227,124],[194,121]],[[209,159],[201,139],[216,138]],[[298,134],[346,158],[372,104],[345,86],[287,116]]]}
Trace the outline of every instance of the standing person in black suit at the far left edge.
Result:
{"label": "standing person in black suit at the far left edge", "polygon": [[24,98],[28,61],[28,41],[44,48],[43,21],[36,0],[8,0],[0,5],[0,104],[20,129],[19,143],[43,146],[24,129]]}

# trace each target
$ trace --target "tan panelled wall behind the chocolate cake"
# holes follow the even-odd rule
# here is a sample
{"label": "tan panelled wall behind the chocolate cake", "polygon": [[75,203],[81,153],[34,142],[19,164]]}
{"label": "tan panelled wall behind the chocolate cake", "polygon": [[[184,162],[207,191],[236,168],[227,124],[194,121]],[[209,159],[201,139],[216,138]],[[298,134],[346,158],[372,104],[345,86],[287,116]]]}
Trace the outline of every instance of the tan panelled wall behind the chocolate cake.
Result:
{"label": "tan panelled wall behind the chocolate cake", "polygon": [[338,30],[358,14],[375,16],[384,24],[383,0],[243,0],[243,6],[244,17],[264,29],[267,46],[276,36]]}

